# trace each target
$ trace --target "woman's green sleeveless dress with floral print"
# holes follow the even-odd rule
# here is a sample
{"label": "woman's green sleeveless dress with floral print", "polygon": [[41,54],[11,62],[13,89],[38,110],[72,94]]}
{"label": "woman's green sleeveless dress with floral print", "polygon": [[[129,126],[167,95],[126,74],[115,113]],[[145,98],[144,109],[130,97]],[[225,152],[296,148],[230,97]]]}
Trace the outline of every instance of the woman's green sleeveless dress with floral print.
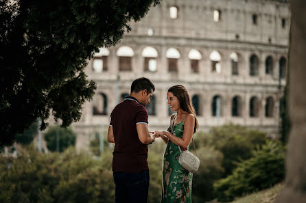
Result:
{"label": "woman's green sleeveless dress with floral print", "polygon": [[[169,126],[168,131],[176,137],[182,138],[184,131],[183,120],[174,126],[173,132],[172,125]],[[189,150],[189,146],[187,149]],[[178,163],[179,156],[180,150],[178,146],[169,140],[163,156],[161,203],[191,203],[193,174]]]}

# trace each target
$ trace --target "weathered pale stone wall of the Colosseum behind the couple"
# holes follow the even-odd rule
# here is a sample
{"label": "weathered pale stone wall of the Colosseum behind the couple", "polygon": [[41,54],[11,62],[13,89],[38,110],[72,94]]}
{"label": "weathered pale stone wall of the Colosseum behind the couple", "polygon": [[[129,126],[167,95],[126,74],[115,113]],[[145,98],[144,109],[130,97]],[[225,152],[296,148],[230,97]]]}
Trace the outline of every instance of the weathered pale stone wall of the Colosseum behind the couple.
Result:
{"label": "weathered pale stone wall of the Colosseum behind the couple", "polygon": [[[178,17],[169,18],[169,8],[178,8]],[[213,11],[219,10],[220,21],[213,20]],[[252,15],[257,14],[257,25],[252,23]],[[285,27],[282,27],[282,18]],[[107,97],[107,115],[93,116],[93,103],[84,104],[80,122],[73,124],[78,133],[78,148],[87,146],[96,128],[103,124],[107,128],[110,112],[116,105],[116,95],[129,94],[132,81],[138,77],[148,77],[156,85],[156,115],[149,116],[150,130],[164,129],[169,124],[167,107],[167,89],[172,85],[182,84],[187,87],[191,96],[200,98],[199,116],[200,131],[208,131],[217,124],[242,124],[257,128],[277,136],[279,129],[279,99],[283,94],[285,79],[279,79],[279,60],[287,59],[288,33],[290,28],[290,10],[287,3],[280,1],[183,1],[164,0],[161,5],[152,8],[148,16],[141,21],[131,23],[132,31],[127,33],[121,43],[109,48],[107,59],[108,70],[93,71],[91,60],[86,68],[89,79],[97,83],[96,94]],[[152,35],[148,35],[152,29]],[[236,36],[239,38],[236,38]],[[269,42],[270,38],[270,42]],[[119,71],[119,57],[116,53],[121,46],[130,46],[134,51],[132,71]],[[156,72],[143,68],[144,58],[141,55],[146,46],[152,46],[158,52]],[[180,53],[178,72],[169,72],[166,51],[175,48]],[[199,60],[199,72],[191,70],[188,53],[196,49],[202,55]],[[212,51],[221,55],[221,72],[211,71],[209,55]],[[239,75],[231,74],[230,55],[238,55]],[[259,59],[259,75],[250,76],[250,56]],[[265,72],[266,58],[272,56],[273,71]],[[119,81],[117,79],[120,79]],[[116,84],[119,88],[116,89]],[[213,96],[222,98],[222,116],[212,116]],[[231,105],[234,96],[242,98],[242,115],[233,117]],[[259,116],[250,117],[250,98],[259,98]],[[271,118],[264,114],[266,98],[274,100],[274,113]],[[86,138],[84,138],[86,137]]]}

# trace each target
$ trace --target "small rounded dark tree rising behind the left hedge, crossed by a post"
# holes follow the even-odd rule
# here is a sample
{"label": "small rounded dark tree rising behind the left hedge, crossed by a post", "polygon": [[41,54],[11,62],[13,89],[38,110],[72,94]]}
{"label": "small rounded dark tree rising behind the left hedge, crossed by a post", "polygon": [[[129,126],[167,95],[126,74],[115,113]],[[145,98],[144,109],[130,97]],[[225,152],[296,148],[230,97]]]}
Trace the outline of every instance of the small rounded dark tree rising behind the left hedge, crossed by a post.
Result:
{"label": "small rounded dark tree rising behind the left hedge, crossed by a post", "polygon": [[71,128],[60,128],[60,126],[51,126],[44,134],[47,141],[48,150],[56,151],[56,134],[58,132],[59,151],[62,152],[69,146],[75,145],[76,135]]}

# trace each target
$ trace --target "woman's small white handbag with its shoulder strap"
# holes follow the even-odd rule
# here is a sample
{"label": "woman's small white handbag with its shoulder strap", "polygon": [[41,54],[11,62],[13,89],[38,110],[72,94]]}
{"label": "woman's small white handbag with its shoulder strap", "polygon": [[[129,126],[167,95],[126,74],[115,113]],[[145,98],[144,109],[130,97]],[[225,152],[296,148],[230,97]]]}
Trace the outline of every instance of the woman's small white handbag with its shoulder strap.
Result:
{"label": "woman's small white handbag with its shoulder strap", "polygon": [[[174,133],[173,131],[174,131],[175,117],[172,120],[172,128],[171,128],[172,134]],[[196,146],[194,145],[193,139],[192,139],[192,143],[193,143],[194,150],[196,152]],[[188,150],[185,150],[182,152],[182,150],[180,149],[180,146],[178,146],[178,149],[180,150],[180,157],[178,157],[178,163],[180,163],[180,165],[182,165],[185,168],[185,170],[188,170],[191,173],[196,172],[200,166],[200,159],[198,159],[196,155],[192,154]]]}

